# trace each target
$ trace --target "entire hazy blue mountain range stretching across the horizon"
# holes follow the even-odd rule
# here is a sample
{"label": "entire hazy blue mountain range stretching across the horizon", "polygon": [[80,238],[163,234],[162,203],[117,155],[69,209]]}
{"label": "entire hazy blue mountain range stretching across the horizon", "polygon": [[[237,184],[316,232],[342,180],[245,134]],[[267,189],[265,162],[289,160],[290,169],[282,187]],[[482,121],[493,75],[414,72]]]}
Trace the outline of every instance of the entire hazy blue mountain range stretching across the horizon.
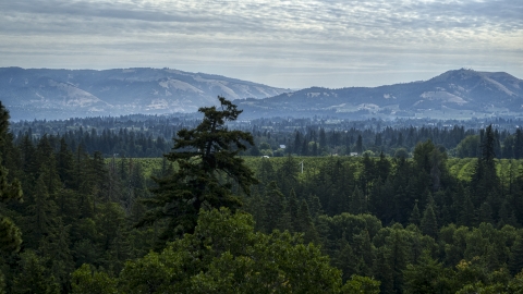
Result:
{"label": "entire hazy blue mountain range stretching across the horizon", "polygon": [[243,109],[243,119],[523,115],[523,81],[506,72],[460,69],[427,81],[291,91],[167,68],[104,71],[0,68],[0,100],[14,120],[195,112],[199,107],[216,105],[218,95]]}

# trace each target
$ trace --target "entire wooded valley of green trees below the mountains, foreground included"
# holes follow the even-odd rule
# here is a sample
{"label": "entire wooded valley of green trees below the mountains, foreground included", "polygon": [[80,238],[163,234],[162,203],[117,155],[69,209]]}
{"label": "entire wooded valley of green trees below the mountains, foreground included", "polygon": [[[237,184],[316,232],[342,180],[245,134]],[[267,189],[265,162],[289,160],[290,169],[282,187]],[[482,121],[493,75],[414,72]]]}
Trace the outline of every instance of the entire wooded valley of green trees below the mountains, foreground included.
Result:
{"label": "entire wooded valley of green trees below the mountains, foreground included", "polygon": [[248,133],[221,102],[48,135],[0,106],[1,291],[523,293],[521,131]]}

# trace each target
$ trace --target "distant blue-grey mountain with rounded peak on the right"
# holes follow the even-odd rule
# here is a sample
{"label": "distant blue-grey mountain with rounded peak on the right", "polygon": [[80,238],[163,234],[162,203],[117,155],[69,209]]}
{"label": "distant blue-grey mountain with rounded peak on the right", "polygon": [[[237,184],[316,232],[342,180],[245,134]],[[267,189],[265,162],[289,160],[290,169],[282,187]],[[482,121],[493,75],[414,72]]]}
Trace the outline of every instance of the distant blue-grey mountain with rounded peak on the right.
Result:
{"label": "distant blue-grey mountain with rounded peak on the right", "polygon": [[402,117],[470,119],[523,117],[523,81],[508,73],[449,71],[425,82],[374,88],[312,87],[254,100],[236,100],[250,118],[275,115],[342,118]]}

